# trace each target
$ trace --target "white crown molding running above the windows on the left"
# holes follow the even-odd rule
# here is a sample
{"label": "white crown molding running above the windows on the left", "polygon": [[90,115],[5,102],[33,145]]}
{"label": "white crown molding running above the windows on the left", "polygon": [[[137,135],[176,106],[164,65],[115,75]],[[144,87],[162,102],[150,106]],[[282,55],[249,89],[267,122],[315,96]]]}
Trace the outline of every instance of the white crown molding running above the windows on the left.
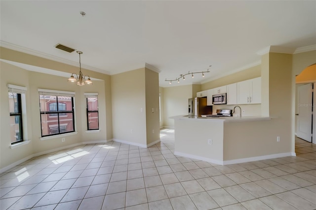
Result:
{"label": "white crown molding running above the windows on the left", "polygon": [[[22,53],[27,53],[27,54],[30,54],[30,55],[34,55],[34,56],[38,56],[38,57],[41,57],[41,58],[49,59],[49,60],[52,60],[52,61],[56,61],[56,62],[59,62],[59,63],[68,64],[68,65],[71,65],[71,66],[79,67],[79,63],[78,62],[74,62],[74,61],[70,61],[70,60],[67,60],[67,59],[64,59],[64,58],[60,58],[60,57],[57,57],[57,56],[53,56],[53,55],[49,55],[49,54],[46,54],[46,53],[42,53],[40,51],[32,50],[32,49],[29,49],[29,48],[26,48],[26,47],[22,47],[22,46],[19,46],[19,45],[16,45],[16,44],[12,44],[12,43],[9,43],[9,42],[6,42],[6,41],[0,40],[0,46],[4,47],[4,48],[11,49],[11,50],[19,51],[19,52],[22,52]],[[84,65],[84,64],[81,64],[81,67],[83,69],[86,69],[86,70],[92,70],[92,71],[96,71],[96,72],[99,72],[99,73],[105,73],[105,74],[109,74],[109,75],[111,74],[109,71],[98,69],[98,68],[91,67],[91,66]]]}

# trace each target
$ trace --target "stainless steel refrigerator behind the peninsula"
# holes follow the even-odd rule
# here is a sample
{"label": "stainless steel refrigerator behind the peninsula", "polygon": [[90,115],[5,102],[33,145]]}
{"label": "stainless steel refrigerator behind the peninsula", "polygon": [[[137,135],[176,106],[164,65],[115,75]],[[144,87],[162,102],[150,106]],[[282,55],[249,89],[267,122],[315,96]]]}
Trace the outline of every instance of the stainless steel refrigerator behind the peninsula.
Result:
{"label": "stainless steel refrigerator behind the peninsula", "polygon": [[192,98],[188,102],[189,113],[188,115],[198,116],[201,114],[212,114],[212,106],[207,105],[207,98]]}

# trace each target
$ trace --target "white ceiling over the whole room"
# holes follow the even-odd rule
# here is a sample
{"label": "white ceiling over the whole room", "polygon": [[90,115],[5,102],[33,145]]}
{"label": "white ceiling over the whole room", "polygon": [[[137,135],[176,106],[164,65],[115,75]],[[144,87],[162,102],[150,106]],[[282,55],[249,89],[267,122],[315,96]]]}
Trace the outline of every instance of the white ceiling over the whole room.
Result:
{"label": "white ceiling over the whole room", "polygon": [[[82,17],[80,11],[86,15]],[[260,63],[259,51],[316,45],[316,1],[1,0],[1,46],[108,74],[157,68],[160,86],[203,83]]]}

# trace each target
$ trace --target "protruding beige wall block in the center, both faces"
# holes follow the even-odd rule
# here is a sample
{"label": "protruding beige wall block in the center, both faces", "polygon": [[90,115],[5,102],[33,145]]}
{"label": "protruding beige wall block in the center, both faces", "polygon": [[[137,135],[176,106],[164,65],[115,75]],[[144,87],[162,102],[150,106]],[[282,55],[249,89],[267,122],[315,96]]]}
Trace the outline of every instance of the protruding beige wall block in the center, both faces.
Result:
{"label": "protruding beige wall block in the center, both faces", "polygon": [[111,76],[114,140],[146,146],[160,139],[158,81],[145,68]]}

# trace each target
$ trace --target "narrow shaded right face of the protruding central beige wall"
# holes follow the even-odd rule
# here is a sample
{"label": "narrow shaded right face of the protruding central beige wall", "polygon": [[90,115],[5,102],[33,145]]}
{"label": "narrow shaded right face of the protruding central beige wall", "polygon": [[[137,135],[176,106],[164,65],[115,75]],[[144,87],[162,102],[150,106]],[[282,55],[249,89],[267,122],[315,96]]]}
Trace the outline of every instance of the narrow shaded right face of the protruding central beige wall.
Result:
{"label": "narrow shaded right face of the protruding central beige wall", "polygon": [[145,80],[147,144],[150,144],[154,141],[160,140],[158,73],[149,69],[145,69]]}

